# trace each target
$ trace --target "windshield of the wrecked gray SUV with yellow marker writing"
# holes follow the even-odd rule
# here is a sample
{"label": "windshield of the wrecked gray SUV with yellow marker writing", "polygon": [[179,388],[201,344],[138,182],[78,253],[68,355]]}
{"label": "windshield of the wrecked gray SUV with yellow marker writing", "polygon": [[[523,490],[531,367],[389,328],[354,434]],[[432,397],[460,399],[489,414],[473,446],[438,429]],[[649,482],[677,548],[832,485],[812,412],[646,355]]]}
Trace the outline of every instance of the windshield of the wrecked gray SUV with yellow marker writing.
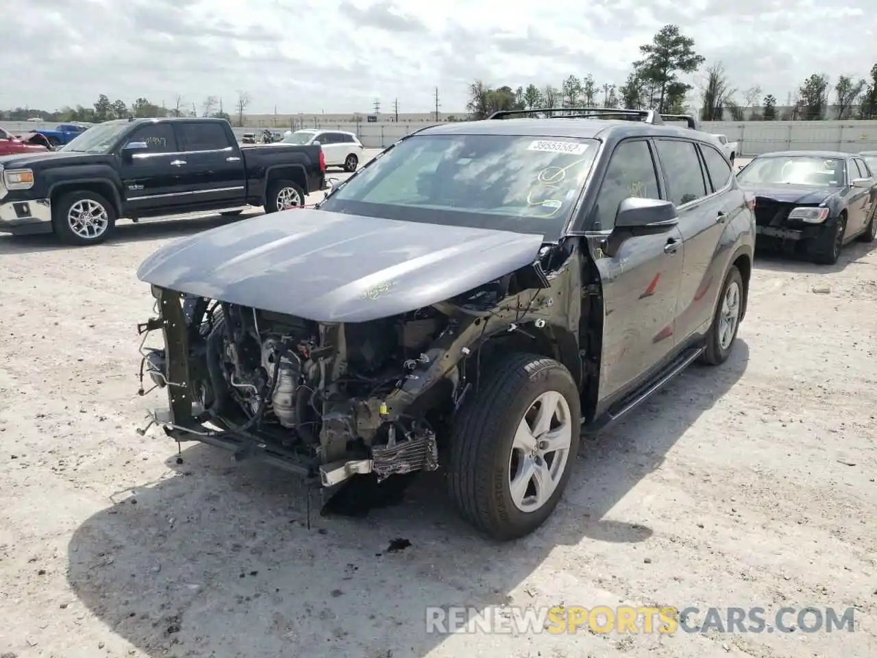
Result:
{"label": "windshield of the wrecked gray SUV with yellow marker writing", "polygon": [[556,240],[598,145],[595,139],[417,135],[379,156],[320,208]]}

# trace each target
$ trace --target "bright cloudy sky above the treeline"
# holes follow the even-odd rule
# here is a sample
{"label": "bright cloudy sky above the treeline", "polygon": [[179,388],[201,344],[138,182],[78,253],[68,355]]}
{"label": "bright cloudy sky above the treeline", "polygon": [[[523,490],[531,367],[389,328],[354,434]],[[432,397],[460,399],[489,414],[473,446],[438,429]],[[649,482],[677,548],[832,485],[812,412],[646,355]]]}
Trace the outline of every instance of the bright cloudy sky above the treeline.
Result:
{"label": "bright cloudy sky above the treeline", "polygon": [[[867,75],[874,0],[0,0],[0,107],[98,94],[248,111],[462,111],[467,84],[624,82],[638,46],[675,23],[731,86],[781,104],[809,74]],[[866,7],[870,9],[866,10]],[[696,82],[696,80],[694,81]]]}

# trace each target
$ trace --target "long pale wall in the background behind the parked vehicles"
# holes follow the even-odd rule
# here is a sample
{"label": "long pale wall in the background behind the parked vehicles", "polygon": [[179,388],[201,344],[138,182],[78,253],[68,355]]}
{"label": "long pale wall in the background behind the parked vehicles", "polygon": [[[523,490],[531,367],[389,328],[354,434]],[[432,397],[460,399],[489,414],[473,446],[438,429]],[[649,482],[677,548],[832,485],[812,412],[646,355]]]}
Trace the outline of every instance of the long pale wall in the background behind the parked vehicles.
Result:
{"label": "long pale wall in the background behind the parked vehicles", "polygon": [[[0,122],[12,134],[35,128],[54,128],[57,124],[37,122]],[[318,127],[324,130],[355,132],[368,148],[388,147],[396,139],[414,132],[428,123],[329,123]],[[858,152],[877,150],[877,121],[712,121],[702,124],[707,132],[721,132],[731,141],[740,142],[740,154],[755,155],[770,151],[824,149]],[[282,129],[280,129],[282,130]],[[235,128],[239,136],[244,132],[260,132],[260,128]]]}

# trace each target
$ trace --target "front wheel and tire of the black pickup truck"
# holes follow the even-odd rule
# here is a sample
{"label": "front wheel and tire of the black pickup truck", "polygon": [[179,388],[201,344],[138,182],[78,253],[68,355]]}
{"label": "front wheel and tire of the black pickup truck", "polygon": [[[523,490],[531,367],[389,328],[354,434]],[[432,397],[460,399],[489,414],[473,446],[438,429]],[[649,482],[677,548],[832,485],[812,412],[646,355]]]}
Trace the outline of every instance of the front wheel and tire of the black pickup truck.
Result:
{"label": "front wheel and tire of the black pickup truck", "polygon": [[[85,216],[85,222],[76,218]],[[77,226],[77,228],[74,228]],[[82,190],[61,195],[52,204],[52,227],[58,240],[68,245],[98,245],[116,228],[116,209],[106,197]]]}

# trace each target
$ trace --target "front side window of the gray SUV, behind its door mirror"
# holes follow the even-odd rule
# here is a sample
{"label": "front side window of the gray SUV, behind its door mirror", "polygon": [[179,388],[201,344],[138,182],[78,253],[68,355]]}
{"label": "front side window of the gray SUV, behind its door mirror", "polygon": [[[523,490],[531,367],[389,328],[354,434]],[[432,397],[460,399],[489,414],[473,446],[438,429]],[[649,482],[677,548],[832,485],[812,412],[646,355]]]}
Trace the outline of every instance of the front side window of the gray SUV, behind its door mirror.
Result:
{"label": "front side window of the gray SUV, behind its door mirror", "polygon": [[660,199],[652,150],[643,139],[624,141],[612,154],[597,194],[593,230],[609,231],[618,206],[628,197]]}

